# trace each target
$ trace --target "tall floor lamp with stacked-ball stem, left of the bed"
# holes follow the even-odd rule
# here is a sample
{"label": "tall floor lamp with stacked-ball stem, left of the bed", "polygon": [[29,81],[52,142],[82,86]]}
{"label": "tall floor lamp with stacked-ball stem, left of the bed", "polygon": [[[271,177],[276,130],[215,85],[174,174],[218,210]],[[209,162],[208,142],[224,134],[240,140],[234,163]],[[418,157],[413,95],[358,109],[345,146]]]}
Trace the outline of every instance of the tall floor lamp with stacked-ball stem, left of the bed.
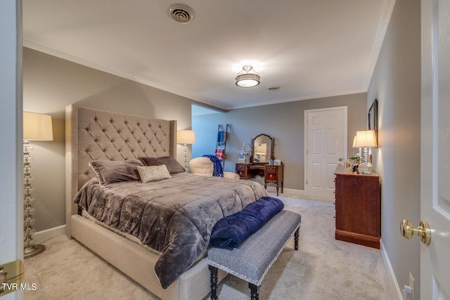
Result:
{"label": "tall floor lamp with stacked-ball stem, left of the bed", "polygon": [[33,151],[30,141],[53,141],[53,128],[51,126],[51,116],[37,114],[34,112],[23,112],[23,257],[35,256],[44,252],[43,244],[34,244],[32,235],[34,230],[34,208],[32,204],[35,199],[32,196],[33,178],[31,176],[33,161],[30,153]]}

